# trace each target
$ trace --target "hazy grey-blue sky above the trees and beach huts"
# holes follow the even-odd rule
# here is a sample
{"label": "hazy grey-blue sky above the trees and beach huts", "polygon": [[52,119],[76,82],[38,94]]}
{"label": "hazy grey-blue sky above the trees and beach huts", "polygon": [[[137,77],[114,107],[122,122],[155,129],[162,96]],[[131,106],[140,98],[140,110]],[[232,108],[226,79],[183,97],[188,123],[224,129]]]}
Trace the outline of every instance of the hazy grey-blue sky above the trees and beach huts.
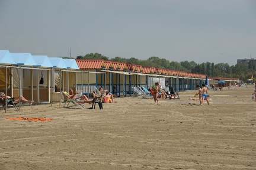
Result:
{"label": "hazy grey-blue sky above the trees and beach huts", "polygon": [[236,64],[256,59],[254,0],[0,0],[0,50]]}

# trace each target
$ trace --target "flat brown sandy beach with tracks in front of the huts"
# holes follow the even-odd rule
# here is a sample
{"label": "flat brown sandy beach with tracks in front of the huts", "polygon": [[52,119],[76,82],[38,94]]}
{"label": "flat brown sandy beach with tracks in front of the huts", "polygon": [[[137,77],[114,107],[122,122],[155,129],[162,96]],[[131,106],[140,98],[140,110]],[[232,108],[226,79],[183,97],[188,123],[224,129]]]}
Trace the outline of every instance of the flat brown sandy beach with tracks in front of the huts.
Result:
{"label": "flat brown sandy beach with tracks in front of the huts", "polygon": [[[104,109],[63,104],[13,107],[0,114],[0,169],[256,169],[252,86],[189,100],[115,98]],[[91,107],[91,104],[85,104]],[[46,117],[46,122],[7,117]]]}

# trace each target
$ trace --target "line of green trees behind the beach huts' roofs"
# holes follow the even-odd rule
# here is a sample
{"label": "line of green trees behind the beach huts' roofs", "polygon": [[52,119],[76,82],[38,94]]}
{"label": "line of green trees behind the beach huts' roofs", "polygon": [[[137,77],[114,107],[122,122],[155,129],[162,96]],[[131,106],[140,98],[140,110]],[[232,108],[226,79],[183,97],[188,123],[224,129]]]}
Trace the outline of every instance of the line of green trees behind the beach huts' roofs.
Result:
{"label": "line of green trees behind the beach huts' roofs", "polygon": [[197,64],[194,61],[169,61],[165,58],[159,57],[149,57],[147,60],[139,60],[137,58],[123,58],[115,57],[108,58],[99,53],[90,53],[86,55],[79,55],[76,58],[78,59],[104,59],[112,60],[124,63],[132,63],[137,65],[142,65],[144,67],[158,67],[158,68],[167,68],[171,70],[186,71],[189,73],[199,73],[207,74],[209,77],[227,77],[227,78],[236,78],[239,80],[251,79],[251,76],[256,73],[254,60],[250,60],[248,63],[236,64],[235,66],[229,66],[228,63],[201,63]]}

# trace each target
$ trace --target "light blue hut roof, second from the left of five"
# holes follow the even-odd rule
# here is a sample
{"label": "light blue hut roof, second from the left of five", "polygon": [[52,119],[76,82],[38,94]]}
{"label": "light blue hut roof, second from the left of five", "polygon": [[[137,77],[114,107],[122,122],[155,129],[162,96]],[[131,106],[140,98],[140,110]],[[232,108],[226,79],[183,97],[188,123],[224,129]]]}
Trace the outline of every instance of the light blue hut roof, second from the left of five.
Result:
{"label": "light blue hut roof, second from the left of five", "polygon": [[37,66],[36,61],[30,53],[11,53],[17,65],[21,66]]}

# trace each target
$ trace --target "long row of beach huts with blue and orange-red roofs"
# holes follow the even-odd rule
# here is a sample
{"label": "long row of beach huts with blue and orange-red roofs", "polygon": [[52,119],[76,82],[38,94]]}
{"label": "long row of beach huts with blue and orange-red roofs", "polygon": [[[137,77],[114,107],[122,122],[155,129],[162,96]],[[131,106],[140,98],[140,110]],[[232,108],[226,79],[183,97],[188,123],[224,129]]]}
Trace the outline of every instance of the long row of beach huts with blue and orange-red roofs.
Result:
{"label": "long row of beach huts with blue and orange-red roofs", "polygon": [[[103,59],[70,59],[9,53],[0,50],[0,91],[8,96],[23,95],[36,103],[61,102],[60,91],[82,90],[89,95],[103,87],[118,97],[132,96],[132,87],[152,87],[159,81],[162,88],[175,91],[195,90],[206,83],[206,74],[187,73],[165,68],[143,67],[131,63]],[[217,80],[226,85],[238,81],[223,77],[207,77],[209,86]]]}

